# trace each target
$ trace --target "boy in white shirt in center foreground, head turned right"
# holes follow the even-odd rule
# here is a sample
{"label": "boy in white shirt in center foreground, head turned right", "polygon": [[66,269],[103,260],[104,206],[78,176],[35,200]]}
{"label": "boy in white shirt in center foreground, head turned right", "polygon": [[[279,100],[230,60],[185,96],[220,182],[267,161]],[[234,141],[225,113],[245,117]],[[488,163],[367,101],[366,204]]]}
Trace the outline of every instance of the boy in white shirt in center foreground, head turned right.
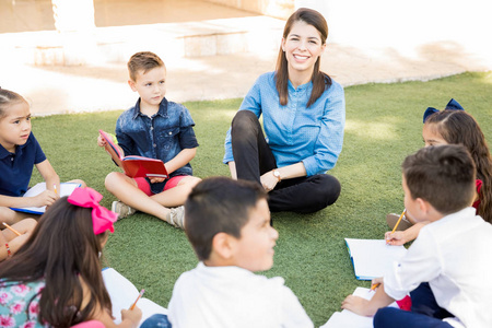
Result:
{"label": "boy in white shirt in center foreground, head turned right", "polygon": [[279,237],[267,194],[226,177],[198,184],[185,203],[185,231],[200,262],[176,281],[168,318],[180,327],[313,327],[273,265]]}

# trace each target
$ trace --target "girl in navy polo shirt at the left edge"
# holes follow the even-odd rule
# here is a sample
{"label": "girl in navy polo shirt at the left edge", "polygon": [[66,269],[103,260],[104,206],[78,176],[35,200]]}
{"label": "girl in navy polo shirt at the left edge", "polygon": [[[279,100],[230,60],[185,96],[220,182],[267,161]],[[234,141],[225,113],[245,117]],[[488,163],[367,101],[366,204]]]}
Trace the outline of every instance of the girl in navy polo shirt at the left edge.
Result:
{"label": "girl in navy polo shirt at the left edge", "polygon": [[[33,216],[10,208],[51,206],[59,198],[55,189],[60,190],[60,178],[31,128],[30,105],[24,97],[0,89],[0,218],[8,224]],[[38,196],[22,197],[28,189],[34,166],[47,188]],[[85,186],[82,180],[72,181]]]}

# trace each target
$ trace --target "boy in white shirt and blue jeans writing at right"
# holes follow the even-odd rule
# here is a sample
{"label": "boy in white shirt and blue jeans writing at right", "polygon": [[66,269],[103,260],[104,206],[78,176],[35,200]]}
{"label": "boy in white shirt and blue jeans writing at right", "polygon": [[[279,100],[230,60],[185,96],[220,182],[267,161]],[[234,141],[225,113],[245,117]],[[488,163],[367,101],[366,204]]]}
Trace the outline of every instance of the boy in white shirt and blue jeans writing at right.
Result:
{"label": "boy in white shirt and blue jeans writing at right", "polygon": [[[342,307],[374,317],[374,327],[491,327],[492,225],[476,215],[475,164],[462,145],[421,149],[402,164],[407,212],[422,227],[394,270],[373,280],[371,301]],[[411,312],[385,307],[410,292]]]}

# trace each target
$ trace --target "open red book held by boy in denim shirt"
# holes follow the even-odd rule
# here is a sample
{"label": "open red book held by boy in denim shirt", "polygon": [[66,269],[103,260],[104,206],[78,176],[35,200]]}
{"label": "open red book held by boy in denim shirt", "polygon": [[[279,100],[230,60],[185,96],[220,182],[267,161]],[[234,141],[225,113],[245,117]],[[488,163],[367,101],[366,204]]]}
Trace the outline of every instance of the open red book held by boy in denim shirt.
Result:
{"label": "open red book held by boy in denim shirt", "polygon": [[118,165],[129,177],[167,178],[166,166],[161,160],[133,155],[124,157],[119,152],[119,149],[113,142],[113,138],[103,130],[99,130],[99,133],[106,141],[106,145],[104,147],[106,152],[112,156],[116,165]]}

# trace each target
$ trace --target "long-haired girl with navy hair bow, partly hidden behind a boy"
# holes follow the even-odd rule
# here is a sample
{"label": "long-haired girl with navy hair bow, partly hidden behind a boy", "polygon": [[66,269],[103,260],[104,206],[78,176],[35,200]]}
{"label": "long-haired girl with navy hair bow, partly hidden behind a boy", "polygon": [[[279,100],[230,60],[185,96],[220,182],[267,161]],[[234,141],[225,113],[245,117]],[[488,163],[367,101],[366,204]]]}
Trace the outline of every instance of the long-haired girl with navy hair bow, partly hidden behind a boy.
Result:
{"label": "long-haired girl with navy hair bow, partly hidden behind a boy", "polygon": [[[477,194],[472,206],[483,220],[492,223],[492,159],[478,122],[455,99],[450,99],[446,109],[441,112],[429,107],[423,121],[422,138],[425,147],[460,143],[470,152],[477,169]],[[397,219],[398,215],[388,215],[387,221],[391,229],[396,226]],[[390,245],[403,245],[413,241],[425,223],[413,224],[411,216],[403,215],[397,226],[398,231],[387,232],[385,237]]]}

